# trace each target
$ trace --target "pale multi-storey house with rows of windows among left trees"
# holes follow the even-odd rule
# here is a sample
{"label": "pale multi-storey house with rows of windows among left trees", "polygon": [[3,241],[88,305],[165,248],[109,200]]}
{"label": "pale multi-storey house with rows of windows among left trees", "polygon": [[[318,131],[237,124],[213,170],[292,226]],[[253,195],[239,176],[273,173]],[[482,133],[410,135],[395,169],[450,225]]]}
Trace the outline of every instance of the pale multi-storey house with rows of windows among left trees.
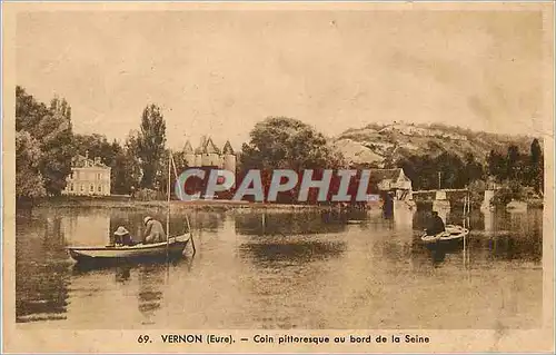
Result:
{"label": "pale multi-storey house with rows of windows among left trees", "polygon": [[71,160],[71,174],[67,177],[63,195],[109,196],[110,167],[100,161],[99,157],[89,159],[78,155]]}

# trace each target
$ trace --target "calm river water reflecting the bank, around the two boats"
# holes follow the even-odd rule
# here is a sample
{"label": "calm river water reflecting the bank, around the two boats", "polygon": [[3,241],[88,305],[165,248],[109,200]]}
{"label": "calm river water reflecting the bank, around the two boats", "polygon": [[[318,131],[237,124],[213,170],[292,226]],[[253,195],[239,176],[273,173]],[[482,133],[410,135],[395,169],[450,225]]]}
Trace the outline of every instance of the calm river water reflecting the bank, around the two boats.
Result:
{"label": "calm river water reflecting the bank, around the two boats", "polygon": [[[163,210],[155,215],[163,221]],[[190,213],[197,255],[81,269],[68,245],[139,233],[146,211],[34,208],[17,217],[17,322],[60,328],[534,328],[542,210],[473,214],[467,250],[435,253],[426,213]],[[448,223],[461,224],[453,211]],[[354,221],[358,220],[358,221]],[[171,229],[183,230],[172,216]],[[188,254],[191,253],[188,246]]]}

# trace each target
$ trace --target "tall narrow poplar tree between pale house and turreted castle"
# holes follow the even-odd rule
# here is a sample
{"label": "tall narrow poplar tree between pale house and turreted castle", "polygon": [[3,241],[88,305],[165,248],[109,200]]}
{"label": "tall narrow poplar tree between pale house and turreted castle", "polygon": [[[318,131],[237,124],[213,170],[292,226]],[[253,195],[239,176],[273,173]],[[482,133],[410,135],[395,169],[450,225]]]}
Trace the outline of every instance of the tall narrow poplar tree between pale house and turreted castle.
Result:
{"label": "tall narrow poplar tree between pale house and turreted castle", "polygon": [[137,137],[137,155],[142,170],[141,187],[152,188],[157,178],[160,178],[165,145],[166,121],[160,108],[156,105],[147,106],[142,111]]}

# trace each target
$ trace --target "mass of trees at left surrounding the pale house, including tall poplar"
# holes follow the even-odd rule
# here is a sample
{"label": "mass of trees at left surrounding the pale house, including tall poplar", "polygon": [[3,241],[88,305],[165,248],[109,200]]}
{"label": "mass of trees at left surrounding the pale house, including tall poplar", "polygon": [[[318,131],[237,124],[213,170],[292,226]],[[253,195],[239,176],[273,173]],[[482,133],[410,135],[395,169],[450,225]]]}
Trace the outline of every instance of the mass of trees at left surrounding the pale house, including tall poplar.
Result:
{"label": "mass of trees at left surrounding the pale house, including tall poplar", "polygon": [[53,98],[46,105],[16,88],[17,198],[61,195],[77,154],[99,157],[111,168],[112,194],[156,189],[167,181],[162,174],[167,152],[166,121],[156,105],[143,109],[139,128],[123,142],[109,141],[98,134],[75,134],[66,99]]}

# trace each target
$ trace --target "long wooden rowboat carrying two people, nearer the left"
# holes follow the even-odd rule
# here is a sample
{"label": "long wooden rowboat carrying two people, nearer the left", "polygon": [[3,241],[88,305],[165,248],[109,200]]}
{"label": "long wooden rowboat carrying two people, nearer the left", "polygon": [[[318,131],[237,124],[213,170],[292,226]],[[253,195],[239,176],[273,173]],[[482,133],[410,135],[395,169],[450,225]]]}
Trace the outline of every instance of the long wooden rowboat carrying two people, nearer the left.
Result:
{"label": "long wooden rowboat carrying two people, nearer the left", "polygon": [[68,247],[69,255],[76,262],[93,260],[126,260],[126,259],[158,259],[180,256],[190,240],[189,235],[170,237],[166,241],[156,244],[138,244],[133,246],[93,246]]}

